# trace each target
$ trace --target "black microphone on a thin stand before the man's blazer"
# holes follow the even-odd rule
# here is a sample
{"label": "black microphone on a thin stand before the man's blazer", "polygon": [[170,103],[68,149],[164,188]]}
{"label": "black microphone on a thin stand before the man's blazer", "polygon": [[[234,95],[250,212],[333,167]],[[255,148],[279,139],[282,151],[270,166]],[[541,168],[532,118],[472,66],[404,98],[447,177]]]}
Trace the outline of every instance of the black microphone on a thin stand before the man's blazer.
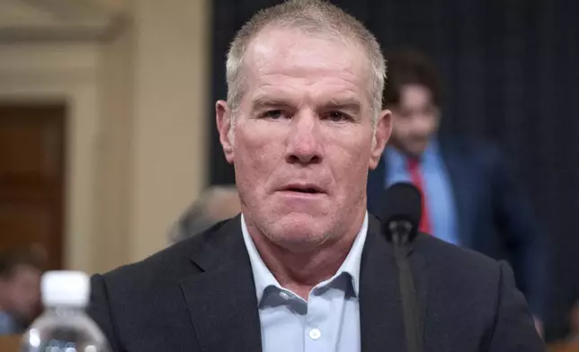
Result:
{"label": "black microphone on a thin stand before the man's blazer", "polygon": [[386,206],[382,213],[382,233],[394,247],[400,295],[404,313],[406,351],[423,351],[423,326],[420,322],[416,290],[407,254],[418,233],[422,215],[422,195],[410,183],[395,183],[385,193]]}

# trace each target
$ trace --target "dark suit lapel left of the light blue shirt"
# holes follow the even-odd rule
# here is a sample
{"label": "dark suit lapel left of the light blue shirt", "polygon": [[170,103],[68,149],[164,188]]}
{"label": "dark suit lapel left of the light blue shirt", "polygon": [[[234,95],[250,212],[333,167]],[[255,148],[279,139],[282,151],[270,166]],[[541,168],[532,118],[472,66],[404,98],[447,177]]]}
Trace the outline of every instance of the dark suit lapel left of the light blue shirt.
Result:
{"label": "dark suit lapel left of the light blue shirt", "polygon": [[204,272],[181,281],[192,325],[204,352],[261,351],[261,327],[251,263],[240,217],[209,233],[192,261]]}

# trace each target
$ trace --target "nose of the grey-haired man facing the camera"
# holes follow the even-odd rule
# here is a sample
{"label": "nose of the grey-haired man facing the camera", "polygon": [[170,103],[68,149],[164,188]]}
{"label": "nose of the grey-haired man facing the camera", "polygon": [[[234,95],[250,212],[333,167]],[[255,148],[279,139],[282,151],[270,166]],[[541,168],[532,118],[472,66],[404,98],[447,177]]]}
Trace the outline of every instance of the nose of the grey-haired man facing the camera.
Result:
{"label": "nose of the grey-haired man facing the camera", "polygon": [[291,122],[290,136],[286,149],[288,163],[303,165],[322,161],[318,119],[313,112],[297,114]]}

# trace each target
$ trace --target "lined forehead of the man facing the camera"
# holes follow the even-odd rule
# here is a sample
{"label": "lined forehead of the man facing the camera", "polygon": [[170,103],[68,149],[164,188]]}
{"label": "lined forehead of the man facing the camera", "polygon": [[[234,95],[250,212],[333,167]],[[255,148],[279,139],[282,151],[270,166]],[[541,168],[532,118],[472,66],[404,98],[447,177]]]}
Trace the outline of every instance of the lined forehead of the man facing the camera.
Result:
{"label": "lined forehead of the man facing the camera", "polygon": [[369,87],[370,62],[361,46],[322,33],[265,28],[247,48],[244,66],[250,89],[301,84],[361,95]]}

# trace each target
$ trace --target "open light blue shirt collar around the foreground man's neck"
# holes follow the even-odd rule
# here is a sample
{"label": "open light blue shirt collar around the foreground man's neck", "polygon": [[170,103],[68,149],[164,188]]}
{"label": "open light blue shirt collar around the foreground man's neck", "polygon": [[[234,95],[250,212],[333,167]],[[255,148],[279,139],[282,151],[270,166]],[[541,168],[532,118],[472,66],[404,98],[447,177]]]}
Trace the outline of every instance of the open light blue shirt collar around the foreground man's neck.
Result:
{"label": "open light blue shirt collar around the foreground man's neck", "polygon": [[[259,252],[255,248],[254,240],[247,231],[247,225],[245,224],[245,217],[241,215],[241,232],[244,236],[245,248],[249,254],[249,260],[251,262],[252,271],[254,274],[255,283],[255,293],[257,295],[257,302],[260,303],[263,298],[263,292],[269,286],[275,286],[281,288],[280,283],[273,277],[272,272],[265,266]],[[341,276],[343,273],[348,274],[352,278],[352,288],[354,294],[358,297],[360,291],[360,263],[361,263],[361,253],[364,248],[364,243],[366,242],[366,235],[368,233],[368,212],[364,216],[364,222],[361,225],[360,232],[356,235],[356,239],[352,243],[352,248],[348,252],[346,259],[343,260],[342,265],[336,271],[334,277],[326,280],[325,282],[331,282],[335,277]]]}

